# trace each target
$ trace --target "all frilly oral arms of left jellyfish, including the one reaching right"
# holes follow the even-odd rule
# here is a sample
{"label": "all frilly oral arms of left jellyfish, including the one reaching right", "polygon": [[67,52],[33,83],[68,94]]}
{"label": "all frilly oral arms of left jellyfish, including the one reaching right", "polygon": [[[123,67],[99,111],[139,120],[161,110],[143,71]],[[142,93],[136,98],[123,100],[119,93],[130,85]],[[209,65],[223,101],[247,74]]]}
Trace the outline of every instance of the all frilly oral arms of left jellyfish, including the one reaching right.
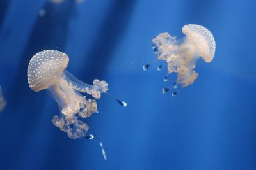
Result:
{"label": "all frilly oral arms of left jellyfish, including the one reaching right", "polygon": [[[76,139],[85,138],[88,129],[87,124],[79,120],[79,117],[87,118],[92,113],[98,112],[96,101],[86,99],[80,92],[100,99],[101,93],[107,92],[108,84],[106,81],[94,80],[93,85],[88,85],[75,78],[68,71],[63,71],[58,81],[55,81],[47,90],[60,108],[60,116],[54,116],[52,123],[62,131],[67,132],[68,137]],[[122,106],[127,106],[126,103],[116,100]]]}

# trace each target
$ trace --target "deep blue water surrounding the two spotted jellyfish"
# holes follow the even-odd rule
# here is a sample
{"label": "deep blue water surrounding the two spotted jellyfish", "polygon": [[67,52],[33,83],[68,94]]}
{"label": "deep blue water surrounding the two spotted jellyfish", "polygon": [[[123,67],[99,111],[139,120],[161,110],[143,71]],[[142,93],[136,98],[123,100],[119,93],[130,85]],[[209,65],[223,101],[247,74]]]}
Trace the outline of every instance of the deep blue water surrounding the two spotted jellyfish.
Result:
{"label": "deep blue water surrounding the two spotted jellyfish", "polygon": [[[44,8],[46,15],[38,16]],[[8,105],[0,115],[0,169],[256,169],[256,1],[0,0],[0,85]],[[211,63],[200,60],[195,83],[177,97],[151,40],[181,38],[186,24],[216,39]],[[33,92],[31,57],[54,49],[70,57],[68,71],[86,83],[106,80],[127,108],[104,95],[86,119],[104,143],[72,140],[54,127],[58,106]]]}

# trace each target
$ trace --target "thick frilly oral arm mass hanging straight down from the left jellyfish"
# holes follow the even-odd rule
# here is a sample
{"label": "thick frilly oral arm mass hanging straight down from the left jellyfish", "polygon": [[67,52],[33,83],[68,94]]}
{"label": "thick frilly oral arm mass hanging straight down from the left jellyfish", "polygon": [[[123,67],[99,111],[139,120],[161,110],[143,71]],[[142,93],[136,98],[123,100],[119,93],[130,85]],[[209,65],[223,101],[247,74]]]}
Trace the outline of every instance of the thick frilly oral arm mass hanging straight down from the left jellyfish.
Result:
{"label": "thick frilly oral arm mass hanging straight down from the left jellyfish", "polygon": [[73,89],[65,78],[61,77],[57,82],[47,89],[60,108],[60,115],[55,115],[52,123],[61,131],[67,132],[69,138],[83,138],[88,131],[88,125],[79,120],[79,117],[86,118],[97,113],[97,103]]}

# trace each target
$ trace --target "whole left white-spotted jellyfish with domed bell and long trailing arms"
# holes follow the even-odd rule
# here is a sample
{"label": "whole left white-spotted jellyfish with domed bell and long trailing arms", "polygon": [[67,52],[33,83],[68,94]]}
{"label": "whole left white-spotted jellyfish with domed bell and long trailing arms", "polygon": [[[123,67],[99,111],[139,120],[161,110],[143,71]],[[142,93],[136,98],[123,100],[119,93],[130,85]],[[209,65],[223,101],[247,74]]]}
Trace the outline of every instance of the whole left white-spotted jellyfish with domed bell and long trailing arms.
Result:
{"label": "whole left white-spotted jellyfish with domed bell and long trailing arms", "polygon": [[[98,112],[95,99],[100,99],[101,94],[108,91],[108,83],[95,79],[93,85],[88,85],[78,80],[66,70],[68,61],[68,55],[60,51],[44,50],[36,53],[29,61],[28,84],[35,92],[47,89],[58,103],[60,115],[52,118],[56,127],[72,139],[93,139],[92,134],[87,135],[89,127],[83,119]],[[127,106],[124,101],[116,101],[123,107]],[[102,154],[106,154],[101,141],[99,143]]]}

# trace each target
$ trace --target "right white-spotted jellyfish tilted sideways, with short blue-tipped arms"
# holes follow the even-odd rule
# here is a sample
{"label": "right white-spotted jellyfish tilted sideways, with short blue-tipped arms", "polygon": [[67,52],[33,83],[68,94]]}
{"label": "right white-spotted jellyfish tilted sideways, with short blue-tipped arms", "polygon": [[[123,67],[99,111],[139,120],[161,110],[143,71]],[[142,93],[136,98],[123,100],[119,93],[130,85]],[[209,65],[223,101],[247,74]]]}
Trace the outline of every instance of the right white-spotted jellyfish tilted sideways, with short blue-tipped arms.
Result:
{"label": "right white-spotted jellyfish tilted sideways, with short blue-tipped arms", "polygon": [[[157,54],[157,60],[165,60],[167,63],[164,81],[168,81],[168,74],[177,73],[177,80],[172,86],[162,89],[163,93],[175,89],[172,96],[176,96],[183,87],[194,83],[198,77],[195,71],[196,61],[200,57],[209,63],[215,54],[215,40],[207,28],[188,24],[182,27],[182,32],[186,35],[184,38],[177,39],[164,32],[152,40],[152,48]],[[149,67],[150,64],[145,64],[143,70],[146,71]],[[160,71],[161,68],[162,65],[158,66],[157,70]]]}

